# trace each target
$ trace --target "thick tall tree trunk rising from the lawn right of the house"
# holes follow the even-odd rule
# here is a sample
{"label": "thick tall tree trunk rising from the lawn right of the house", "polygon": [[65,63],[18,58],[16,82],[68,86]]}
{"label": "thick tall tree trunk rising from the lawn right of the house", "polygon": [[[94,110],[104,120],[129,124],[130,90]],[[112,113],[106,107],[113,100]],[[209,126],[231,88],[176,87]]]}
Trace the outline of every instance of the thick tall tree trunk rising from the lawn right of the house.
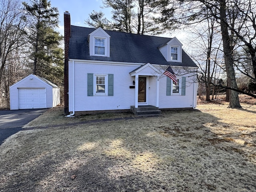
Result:
{"label": "thick tall tree trunk rising from the lawn right of the house", "polygon": [[[230,37],[228,34],[228,27],[226,25],[226,0],[220,0],[220,28],[223,41],[223,51],[224,51],[224,60],[226,66],[226,73],[228,79],[230,79],[230,87],[237,89],[235,70],[234,70],[234,58],[232,54],[232,49],[230,47]],[[238,92],[231,90],[230,91],[230,101],[229,108],[241,108]]]}

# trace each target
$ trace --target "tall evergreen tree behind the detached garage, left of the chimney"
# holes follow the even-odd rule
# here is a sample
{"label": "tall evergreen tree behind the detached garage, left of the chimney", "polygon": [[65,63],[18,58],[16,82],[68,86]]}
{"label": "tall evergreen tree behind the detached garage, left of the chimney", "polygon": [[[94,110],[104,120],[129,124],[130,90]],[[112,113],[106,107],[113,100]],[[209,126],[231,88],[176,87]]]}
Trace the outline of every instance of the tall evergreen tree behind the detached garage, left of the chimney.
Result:
{"label": "tall evergreen tree behind the detached garage, left of the chimney", "polygon": [[48,0],[23,2],[27,12],[28,42],[33,74],[38,74],[59,84],[63,74],[63,50],[60,48],[62,36],[58,27],[58,8],[51,7]]}

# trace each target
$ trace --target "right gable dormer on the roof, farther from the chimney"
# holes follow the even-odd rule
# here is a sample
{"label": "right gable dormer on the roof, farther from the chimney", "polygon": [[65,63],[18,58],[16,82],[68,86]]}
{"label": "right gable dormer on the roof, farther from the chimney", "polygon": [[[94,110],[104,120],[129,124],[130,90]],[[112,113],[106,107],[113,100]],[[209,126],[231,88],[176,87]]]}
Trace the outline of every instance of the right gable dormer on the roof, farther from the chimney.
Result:
{"label": "right gable dormer on the roof, farther from the chimney", "polygon": [[166,61],[182,62],[182,43],[176,38],[158,47]]}

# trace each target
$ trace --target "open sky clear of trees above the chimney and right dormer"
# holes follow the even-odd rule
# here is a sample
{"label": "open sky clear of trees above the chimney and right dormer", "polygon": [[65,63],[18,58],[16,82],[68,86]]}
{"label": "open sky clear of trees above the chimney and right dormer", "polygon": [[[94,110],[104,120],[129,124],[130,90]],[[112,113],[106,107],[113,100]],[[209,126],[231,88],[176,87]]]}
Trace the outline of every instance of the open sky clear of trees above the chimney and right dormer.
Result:
{"label": "open sky clear of trees above the chimney and right dormer", "polygon": [[[101,8],[103,6],[102,0],[50,0],[52,7],[57,7],[59,10],[59,31],[64,35],[64,12],[68,11],[70,13],[71,24],[75,26],[90,27],[84,24],[84,20],[89,17],[89,14],[94,11],[102,11],[105,17],[108,20],[111,20],[111,9],[110,8]],[[173,38],[176,36],[182,44],[184,44],[184,38],[187,35],[182,32],[176,32],[174,34],[162,34],[160,36]]]}

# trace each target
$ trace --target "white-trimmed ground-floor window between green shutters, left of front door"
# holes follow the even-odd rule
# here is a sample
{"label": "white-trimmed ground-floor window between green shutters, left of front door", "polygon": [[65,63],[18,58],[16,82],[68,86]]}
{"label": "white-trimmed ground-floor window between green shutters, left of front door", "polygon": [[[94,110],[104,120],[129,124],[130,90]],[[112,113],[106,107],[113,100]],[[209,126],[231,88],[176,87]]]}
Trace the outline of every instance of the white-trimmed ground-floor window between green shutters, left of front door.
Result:
{"label": "white-trimmed ground-floor window between green shutters, left of front door", "polygon": [[106,95],[107,94],[107,75],[94,75],[94,94]]}

